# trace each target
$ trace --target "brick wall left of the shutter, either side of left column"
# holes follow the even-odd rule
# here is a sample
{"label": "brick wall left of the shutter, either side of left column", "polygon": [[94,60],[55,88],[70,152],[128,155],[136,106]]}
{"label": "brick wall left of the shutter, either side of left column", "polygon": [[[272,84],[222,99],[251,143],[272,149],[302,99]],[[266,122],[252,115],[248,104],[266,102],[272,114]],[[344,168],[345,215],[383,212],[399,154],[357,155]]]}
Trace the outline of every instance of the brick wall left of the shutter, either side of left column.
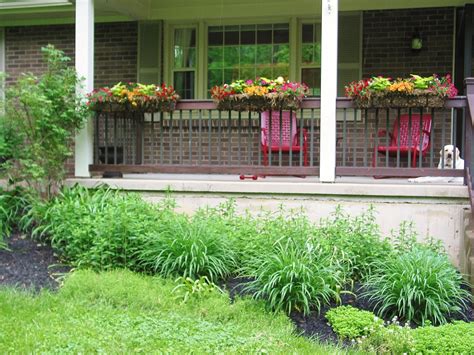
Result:
{"label": "brick wall left of the shutter, either side of left column", "polygon": [[[95,86],[136,81],[137,23],[105,23],[95,27]],[[6,72],[14,81],[22,72],[41,73],[41,47],[53,44],[74,63],[74,25],[9,27],[5,34]]]}

